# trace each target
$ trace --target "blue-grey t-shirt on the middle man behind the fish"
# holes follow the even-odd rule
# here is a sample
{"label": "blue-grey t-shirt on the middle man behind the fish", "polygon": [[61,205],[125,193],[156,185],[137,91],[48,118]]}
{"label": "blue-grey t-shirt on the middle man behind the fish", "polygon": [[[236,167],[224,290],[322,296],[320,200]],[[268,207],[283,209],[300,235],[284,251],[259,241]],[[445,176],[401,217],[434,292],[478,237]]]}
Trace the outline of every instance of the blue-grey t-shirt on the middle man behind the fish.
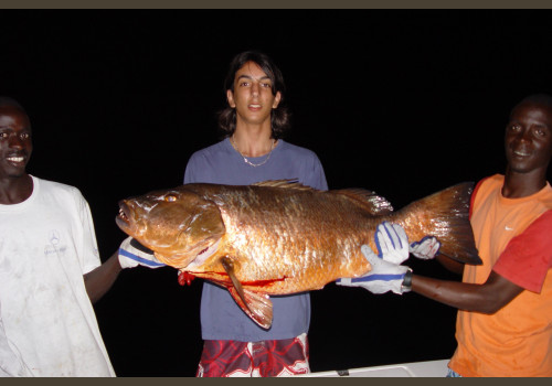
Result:
{"label": "blue-grey t-shirt on the middle man behind the fish", "polygon": [[[267,156],[248,158],[252,163]],[[254,168],[244,162],[229,139],[197,151],[185,167],[184,183],[217,183],[248,185],[266,180],[296,179],[304,185],[328,190],[326,175],[318,157],[310,150],[278,141],[270,159]],[[308,332],[310,297],[308,292],[270,297],[274,318],[270,329],[264,330],[236,304],[226,289],[205,281],[201,297],[201,334],[203,340],[257,342],[289,339]]]}

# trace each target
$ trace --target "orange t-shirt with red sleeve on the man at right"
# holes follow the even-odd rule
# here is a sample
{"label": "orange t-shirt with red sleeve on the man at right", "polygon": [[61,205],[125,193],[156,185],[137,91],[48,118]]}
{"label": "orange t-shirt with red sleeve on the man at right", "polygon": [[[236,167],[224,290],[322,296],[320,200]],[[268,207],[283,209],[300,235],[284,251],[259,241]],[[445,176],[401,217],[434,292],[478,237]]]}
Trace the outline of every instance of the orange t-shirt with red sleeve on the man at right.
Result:
{"label": "orange t-shirt with red sleeve on the man at right", "polygon": [[461,376],[552,376],[552,187],[522,199],[501,194],[503,175],[474,192],[471,226],[484,264],[464,282],[484,283],[492,270],[524,288],[488,315],[458,311],[458,347],[449,367]]}

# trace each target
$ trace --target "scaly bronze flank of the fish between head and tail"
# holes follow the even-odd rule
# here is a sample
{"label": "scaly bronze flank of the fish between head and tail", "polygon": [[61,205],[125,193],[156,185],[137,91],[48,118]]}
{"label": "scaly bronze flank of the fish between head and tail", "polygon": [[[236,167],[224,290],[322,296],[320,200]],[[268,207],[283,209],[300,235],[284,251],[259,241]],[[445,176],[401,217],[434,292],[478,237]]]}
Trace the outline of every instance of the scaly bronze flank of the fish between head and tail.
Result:
{"label": "scaly bronze flank of the fish between head and tail", "polygon": [[[343,275],[359,276],[370,269],[358,246],[370,242],[376,224],[339,195],[232,189],[203,196],[221,210],[229,248],[219,254],[240,261],[235,275],[242,283],[280,279],[262,287],[266,293],[284,294],[319,289]],[[367,227],[367,221],[373,224]],[[216,270],[219,262],[213,261],[215,267],[204,269]]]}

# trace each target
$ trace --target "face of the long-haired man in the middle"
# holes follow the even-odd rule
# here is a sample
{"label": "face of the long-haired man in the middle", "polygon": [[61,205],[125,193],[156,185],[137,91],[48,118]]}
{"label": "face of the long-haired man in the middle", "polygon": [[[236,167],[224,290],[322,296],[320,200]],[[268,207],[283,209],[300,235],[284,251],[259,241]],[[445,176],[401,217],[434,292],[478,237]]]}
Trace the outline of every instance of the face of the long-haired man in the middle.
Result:
{"label": "face of the long-haired man in the middle", "polygon": [[273,95],[273,84],[254,62],[245,63],[234,77],[234,92],[227,90],[229,105],[236,109],[236,124],[262,125],[270,121],[278,107],[280,93]]}

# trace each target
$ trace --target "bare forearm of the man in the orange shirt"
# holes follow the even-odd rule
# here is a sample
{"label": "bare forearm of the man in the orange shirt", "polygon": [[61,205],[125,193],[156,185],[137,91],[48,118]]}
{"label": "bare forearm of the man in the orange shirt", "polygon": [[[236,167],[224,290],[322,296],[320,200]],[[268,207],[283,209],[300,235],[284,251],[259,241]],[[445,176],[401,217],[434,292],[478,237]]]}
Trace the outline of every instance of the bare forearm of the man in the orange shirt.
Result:
{"label": "bare forearm of the man in the orange shirt", "polygon": [[412,291],[460,310],[492,314],[520,294],[523,288],[491,271],[482,285],[413,275]]}

